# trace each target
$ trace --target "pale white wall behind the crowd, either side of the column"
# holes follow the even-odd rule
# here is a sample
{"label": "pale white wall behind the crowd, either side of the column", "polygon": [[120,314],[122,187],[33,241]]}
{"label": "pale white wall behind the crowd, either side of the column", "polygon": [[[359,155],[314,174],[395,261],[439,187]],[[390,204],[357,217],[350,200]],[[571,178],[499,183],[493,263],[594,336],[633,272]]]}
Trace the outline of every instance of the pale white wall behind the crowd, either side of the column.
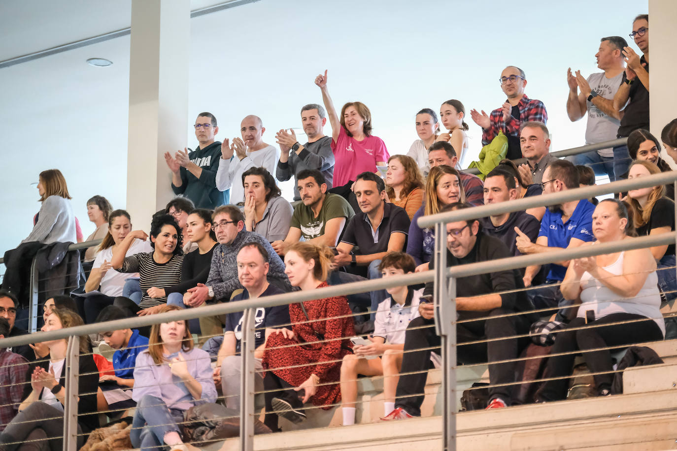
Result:
{"label": "pale white wall behind the crowd, either side of the column", "polygon": [[[571,124],[565,112],[567,67],[596,70],[600,37],[630,41],[632,18],[644,12],[646,1],[629,0],[604,9],[582,0],[263,0],[191,21],[188,116],[211,111],[218,137],[232,138],[244,116],[258,114],[274,144],[276,130],[300,125],[303,104],[321,103],[313,80],[328,69],[337,107],[363,101],[374,134],[391,154],[406,153],[420,108],[450,98],[466,110],[498,108],[498,77],[515,64],[527,74],[527,95],[548,108],[553,149],[582,145],[584,122]],[[114,65],[85,64],[95,56]],[[64,172],[85,236],[91,195],[125,207],[129,37],[2,69],[0,86],[0,252],[30,232],[39,210],[30,183],[41,170]],[[474,158],[481,133],[466,122]],[[196,146],[191,124],[175,149]],[[133,221],[147,229],[150,218]]]}

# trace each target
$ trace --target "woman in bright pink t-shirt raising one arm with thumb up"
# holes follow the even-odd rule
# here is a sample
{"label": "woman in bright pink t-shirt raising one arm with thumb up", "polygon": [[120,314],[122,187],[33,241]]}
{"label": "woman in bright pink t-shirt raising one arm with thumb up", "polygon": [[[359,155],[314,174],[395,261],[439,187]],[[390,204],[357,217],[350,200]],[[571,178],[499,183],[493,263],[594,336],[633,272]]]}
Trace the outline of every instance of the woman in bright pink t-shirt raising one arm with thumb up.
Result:
{"label": "woman in bright pink t-shirt raising one arm with thumb up", "polygon": [[342,187],[355,181],[357,174],[376,172],[376,166],[385,166],[388,149],[383,139],[371,135],[372,115],[362,102],[349,102],[341,108],[341,117],[336,114],[332,98],[327,90],[327,71],[315,78],[315,85],[322,90],[324,108],[332,125],[332,151],[334,187]]}

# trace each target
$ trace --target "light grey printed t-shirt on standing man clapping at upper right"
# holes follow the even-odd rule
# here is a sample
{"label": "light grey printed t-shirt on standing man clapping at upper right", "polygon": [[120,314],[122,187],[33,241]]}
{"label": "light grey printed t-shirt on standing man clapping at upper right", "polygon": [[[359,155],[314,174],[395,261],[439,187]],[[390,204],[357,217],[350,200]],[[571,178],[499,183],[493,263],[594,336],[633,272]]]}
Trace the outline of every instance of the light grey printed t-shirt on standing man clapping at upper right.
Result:
{"label": "light grey printed t-shirt on standing man clapping at upper right", "polygon": [[[590,89],[598,93],[605,99],[613,100],[616,91],[623,80],[623,72],[613,78],[607,78],[604,72],[591,74],[588,77]],[[616,139],[618,127],[621,122],[617,119],[607,116],[605,112],[599,110],[592,102],[588,101],[588,124],[586,126],[586,144],[601,143]],[[613,157],[613,148],[607,147],[597,151],[600,156]]]}

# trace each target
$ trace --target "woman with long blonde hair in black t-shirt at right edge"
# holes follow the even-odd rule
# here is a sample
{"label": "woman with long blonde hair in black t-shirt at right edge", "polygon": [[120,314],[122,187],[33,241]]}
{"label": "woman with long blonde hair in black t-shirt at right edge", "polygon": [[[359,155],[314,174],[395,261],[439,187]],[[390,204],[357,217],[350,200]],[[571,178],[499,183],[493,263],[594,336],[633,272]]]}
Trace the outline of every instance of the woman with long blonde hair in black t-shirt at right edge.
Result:
{"label": "woman with long blonde hair in black t-shirt at right edge", "polygon": [[[653,163],[635,160],[628,170],[628,179],[659,174],[661,170]],[[637,235],[659,235],[675,229],[674,202],[664,196],[665,186],[632,189],[628,191],[628,201],[632,206],[633,222]],[[677,298],[677,278],[675,266],[675,245],[651,247],[651,254],[658,263],[658,287],[668,300]]]}

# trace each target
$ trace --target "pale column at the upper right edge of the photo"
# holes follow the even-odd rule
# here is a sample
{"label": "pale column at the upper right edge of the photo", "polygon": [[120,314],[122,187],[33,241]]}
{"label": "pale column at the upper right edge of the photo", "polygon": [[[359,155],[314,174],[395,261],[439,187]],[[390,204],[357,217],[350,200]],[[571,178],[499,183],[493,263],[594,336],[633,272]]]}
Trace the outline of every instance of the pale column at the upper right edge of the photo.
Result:
{"label": "pale column at the upper right edge of the photo", "polygon": [[[677,4],[674,0],[649,0],[649,117],[651,133],[661,139],[661,130],[677,118]],[[663,160],[676,168],[665,151]]]}

